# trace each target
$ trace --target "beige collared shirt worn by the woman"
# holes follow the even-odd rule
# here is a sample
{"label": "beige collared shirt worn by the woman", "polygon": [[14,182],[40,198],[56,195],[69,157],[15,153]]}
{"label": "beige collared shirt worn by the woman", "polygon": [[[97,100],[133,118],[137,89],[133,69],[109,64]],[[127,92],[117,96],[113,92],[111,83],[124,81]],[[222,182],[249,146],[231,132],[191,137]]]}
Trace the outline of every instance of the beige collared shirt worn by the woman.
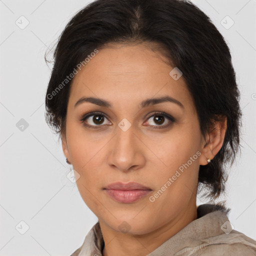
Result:
{"label": "beige collared shirt worn by the woman", "polygon": [[[256,241],[232,229],[227,217],[229,210],[214,204],[197,206],[197,219],[146,256],[256,255]],[[103,246],[104,240],[97,222],[71,256],[102,256]]]}

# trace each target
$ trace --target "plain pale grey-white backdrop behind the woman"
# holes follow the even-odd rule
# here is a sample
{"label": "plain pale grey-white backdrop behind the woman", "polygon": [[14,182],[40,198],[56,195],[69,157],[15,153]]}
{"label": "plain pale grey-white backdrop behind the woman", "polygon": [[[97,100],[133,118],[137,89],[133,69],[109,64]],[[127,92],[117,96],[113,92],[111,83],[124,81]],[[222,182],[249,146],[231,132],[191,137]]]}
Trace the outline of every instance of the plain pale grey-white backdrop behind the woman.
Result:
{"label": "plain pale grey-white backdrop behind the woman", "polygon": [[[52,67],[44,53],[88,2],[0,0],[1,256],[70,255],[97,221],[67,179],[70,165],[44,120]],[[219,200],[227,200],[234,229],[256,239],[256,0],[193,2],[226,39],[241,92],[241,155]]]}

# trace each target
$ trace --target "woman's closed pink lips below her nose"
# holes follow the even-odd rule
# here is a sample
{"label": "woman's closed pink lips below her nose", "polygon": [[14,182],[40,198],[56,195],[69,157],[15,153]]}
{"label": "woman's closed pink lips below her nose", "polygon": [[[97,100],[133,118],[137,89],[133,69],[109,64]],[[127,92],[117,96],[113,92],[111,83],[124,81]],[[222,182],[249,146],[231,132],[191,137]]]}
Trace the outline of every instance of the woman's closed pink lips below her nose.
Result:
{"label": "woman's closed pink lips below her nose", "polygon": [[112,199],[122,203],[137,201],[152,191],[137,182],[115,182],[104,187],[104,190]]}

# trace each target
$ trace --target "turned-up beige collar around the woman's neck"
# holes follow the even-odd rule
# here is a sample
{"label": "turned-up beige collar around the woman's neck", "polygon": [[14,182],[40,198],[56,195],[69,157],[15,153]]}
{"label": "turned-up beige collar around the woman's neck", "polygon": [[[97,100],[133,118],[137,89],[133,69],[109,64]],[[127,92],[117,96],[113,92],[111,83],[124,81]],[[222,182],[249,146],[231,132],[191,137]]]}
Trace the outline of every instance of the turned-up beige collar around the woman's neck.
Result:
{"label": "turned-up beige collar around the woman's neck", "polygon": [[[226,208],[221,203],[205,203],[197,206],[197,219],[190,222],[147,256],[163,256],[165,255],[164,251],[173,255],[184,247],[198,245],[201,239],[222,234],[220,226],[228,221],[229,211],[230,208]],[[99,222],[97,222],[86,235],[77,256],[102,256],[103,247],[104,240]]]}

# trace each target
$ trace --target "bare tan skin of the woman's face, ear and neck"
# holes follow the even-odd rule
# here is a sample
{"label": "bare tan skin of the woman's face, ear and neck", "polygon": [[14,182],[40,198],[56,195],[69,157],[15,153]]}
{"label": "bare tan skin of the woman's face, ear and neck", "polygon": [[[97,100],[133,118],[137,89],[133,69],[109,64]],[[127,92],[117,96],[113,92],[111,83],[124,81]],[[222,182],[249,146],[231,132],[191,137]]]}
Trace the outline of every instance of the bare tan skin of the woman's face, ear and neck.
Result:
{"label": "bare tan skin of the woman's face, ear and neck", "polygon": [[[182,76],[174,80],[169,75],[172,68],[146,44],[115,45],[99,49],[72,80],[62,148],[80,175],[76,174],[76,184],[82,199],[98,217],[104,256],[147,255],[197,218],[199,165],[208,164],[207,159],[221,148],[226,120],[216,122],[203,138],[185,81]],[[164,95],[184,107],[173,102],[139,106],[142,100]],[[111,107],[91,102],[74,107],[82,96],[103,98]],[[79,121],[92,111],[105,116],[101,122],[93,122],[93,116],[84,121],[96,128]],[[165,111],[175,120],[161,115],[158,124],[153,119],[156,111]],[[126,131],[118,126],[123,118],[131,124]],[[165,128],[154,128],[167,123]],[[196,151],[200,156],[151,202],[149,196]],[[103,190],[115,181],[135,181],[152,191],[132,203],[117,202]],[[128,223],[127,232],[119,229],[123,221]]]}

